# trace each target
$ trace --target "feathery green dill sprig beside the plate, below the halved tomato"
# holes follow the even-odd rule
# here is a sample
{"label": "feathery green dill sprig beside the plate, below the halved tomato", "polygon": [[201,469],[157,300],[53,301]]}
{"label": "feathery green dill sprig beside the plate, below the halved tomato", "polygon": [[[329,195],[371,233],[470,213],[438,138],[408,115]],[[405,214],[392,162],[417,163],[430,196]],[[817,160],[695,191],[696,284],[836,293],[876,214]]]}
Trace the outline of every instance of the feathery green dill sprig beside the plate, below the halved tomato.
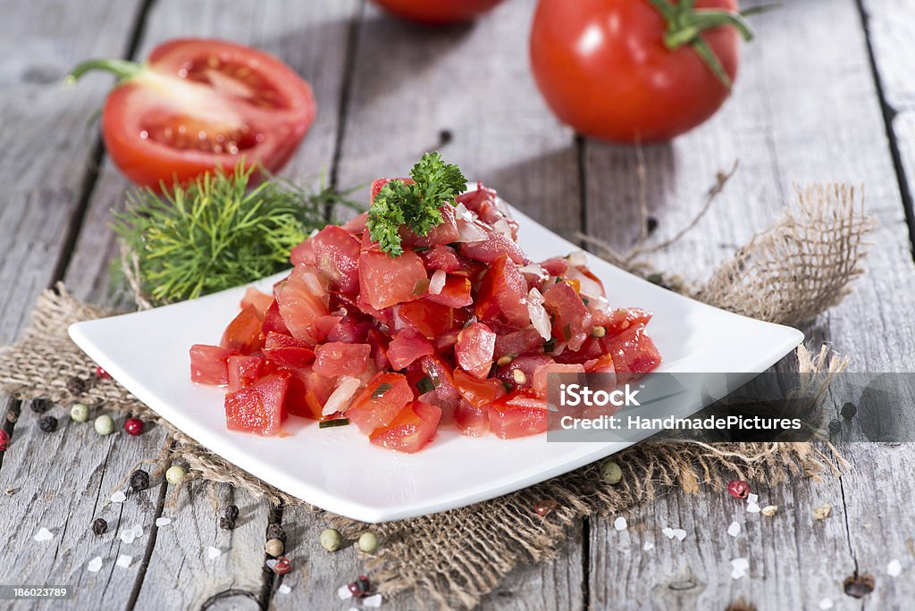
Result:
{"label": "feathery green dill sprig beside the plate, below the halved tomato", "polygon": [[160,305],[250,283],[289,267],[289,252],[328,224],[335,204],[361,209],[333,188],[308,191],[276,177],[250,188],[255,168],[206,173],[158,195],[137,189],[113,229],[145,299]]}

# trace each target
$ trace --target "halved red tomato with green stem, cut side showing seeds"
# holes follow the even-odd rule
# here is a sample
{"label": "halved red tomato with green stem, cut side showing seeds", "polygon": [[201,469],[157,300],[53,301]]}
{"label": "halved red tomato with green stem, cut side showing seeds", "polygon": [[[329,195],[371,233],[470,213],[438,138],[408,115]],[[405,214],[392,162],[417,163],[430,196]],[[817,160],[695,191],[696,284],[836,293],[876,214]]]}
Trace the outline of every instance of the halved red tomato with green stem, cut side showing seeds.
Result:
{"label": "halved red tomato with green stem, cut side showing seeds", "polygon": [[102,137],[114,165],[142,187],[187,183],[242,159],[275,172],[317,109],[311,87],[282,61],[222,40],[171,40],[143,64],[90,59],[70,77],[90,70],[121,77],[102,108]]}

